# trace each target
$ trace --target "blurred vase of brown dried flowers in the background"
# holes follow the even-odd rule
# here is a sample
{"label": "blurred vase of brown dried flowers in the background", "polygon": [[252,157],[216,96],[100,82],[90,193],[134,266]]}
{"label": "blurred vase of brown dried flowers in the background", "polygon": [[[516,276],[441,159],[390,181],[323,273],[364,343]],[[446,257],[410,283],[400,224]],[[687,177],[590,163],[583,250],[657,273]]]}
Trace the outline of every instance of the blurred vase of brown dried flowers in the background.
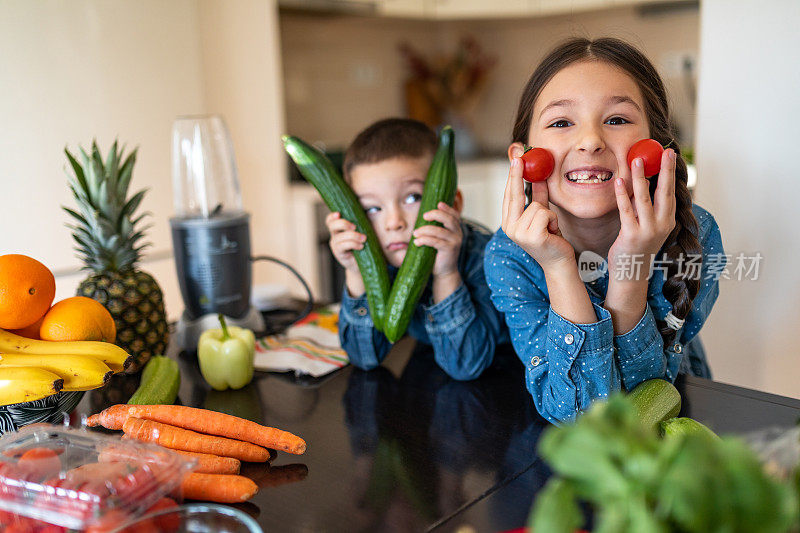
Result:
{"label": "blurred vase of brown dried flowers in the background", "polygon": [[432,60],[408,42],[401,43],[399,49],[409,70],[405,83],[408,116],[432,128],[451,124],[456,131],[456,153],[475,155],[473,115],[496,58],[485,54],[471,36],[459,41],[453,55]]}

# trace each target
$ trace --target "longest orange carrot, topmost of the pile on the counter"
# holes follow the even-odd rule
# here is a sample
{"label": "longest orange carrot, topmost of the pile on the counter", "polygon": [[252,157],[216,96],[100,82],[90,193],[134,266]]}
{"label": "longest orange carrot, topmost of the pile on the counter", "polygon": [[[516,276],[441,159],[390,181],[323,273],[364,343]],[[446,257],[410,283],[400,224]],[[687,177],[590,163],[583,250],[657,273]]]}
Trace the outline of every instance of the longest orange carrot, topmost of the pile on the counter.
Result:
{"label": "longest orange carrot, topmost of the pile on the counter", "polygon": [[184,405],[137,405],[128,410],[130,416],[145,418],[231,439],[252,442],[265,448],[289,453],[306,451],[306,441],[288,431],[262,426],[238,416],[186,407]]}

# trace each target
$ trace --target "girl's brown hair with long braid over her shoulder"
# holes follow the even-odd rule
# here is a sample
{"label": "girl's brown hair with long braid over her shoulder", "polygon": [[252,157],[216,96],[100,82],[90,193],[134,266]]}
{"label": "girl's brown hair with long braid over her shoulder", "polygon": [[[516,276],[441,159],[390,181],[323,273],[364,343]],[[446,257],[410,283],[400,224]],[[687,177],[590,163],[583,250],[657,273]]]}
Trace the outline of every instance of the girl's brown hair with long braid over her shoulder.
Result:
{"label": "girl's brown hair with long braid over her shoulder", "polygon": [[[669,102],[664,82],[655,67],[639,50],[619,39],[570,39],[554,48],[539,64],[525,85],[514,123],[512,142],[527,143],[533,105],[542,88],[561,69],[579,61],[605,61],[627,72],[636,82],[644,99],[645,116],[650,127],[650,137],[675,150],[675,228],[667,237],[661,252],[668,265],[662,291],[672,304],[672,314],[685,319],[692,301],[700,289],[700,276],[692,269],[681,270],[681,259],[693,255],[702,257],[702,247],[697,239],[697,219],[692,212],[692,198],[686,185],[686,162],[675,142],[675,132],[670,117]],[[650,199],[653,200],[658,180],[650,181]],[[694,272],[696,274],[696,271]],[[675,339],[675,330],[664,321],[657,320],[664,346]]]}

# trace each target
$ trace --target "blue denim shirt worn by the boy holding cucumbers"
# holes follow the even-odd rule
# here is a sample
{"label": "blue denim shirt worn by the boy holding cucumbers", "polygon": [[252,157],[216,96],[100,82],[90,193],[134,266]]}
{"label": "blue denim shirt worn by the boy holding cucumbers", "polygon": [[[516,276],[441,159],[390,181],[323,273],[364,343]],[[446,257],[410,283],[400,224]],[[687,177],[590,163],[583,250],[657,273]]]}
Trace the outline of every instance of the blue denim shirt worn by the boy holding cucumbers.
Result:
{"label": "blue denim shirt worn by the boy holding cucumbers", "polygon": [[[428,283],[414,309],[408,333],[433,346],[436,363],[460,380],[474,379],[492,363],[498,342],[508,342],[508,331],[491,303],[483,275],[483,253],[491,233],[472,223],[461,223],[463,240],[458,257],[462,284],[434,304]],[[397,269],[390,267],[394,279]],[[355,366],[375,368],[392,344],[378,331],[369,314],[366,295],[351,297],[347,288],[339,312],[339,339]]]}

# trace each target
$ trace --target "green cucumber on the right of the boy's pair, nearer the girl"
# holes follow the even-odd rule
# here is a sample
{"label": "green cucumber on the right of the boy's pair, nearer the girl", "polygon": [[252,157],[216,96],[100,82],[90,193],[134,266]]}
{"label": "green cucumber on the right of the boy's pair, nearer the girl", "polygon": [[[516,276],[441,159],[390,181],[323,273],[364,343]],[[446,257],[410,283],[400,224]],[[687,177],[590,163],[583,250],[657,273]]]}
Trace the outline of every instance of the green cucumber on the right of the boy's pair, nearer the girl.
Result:
{"label": "green cucumber on the right of the boy's pair, nearer the girl", "polygon": [[[433,156],[431,167],[428,169],[414,229],[425,224],[441,226],[438,222],[425,220],[422,215],[436,209],[439,202],[453,205],[457,180],[453,129],[445,126],[439,134],[439,146]],[[397,342],[406,332],[411,316],[414,314],[414,307],[428,284],[435,260],[435,248],[417,246],[414,244],[414,239],[411,239],[386,303],[383,332],[389,341]]]}

